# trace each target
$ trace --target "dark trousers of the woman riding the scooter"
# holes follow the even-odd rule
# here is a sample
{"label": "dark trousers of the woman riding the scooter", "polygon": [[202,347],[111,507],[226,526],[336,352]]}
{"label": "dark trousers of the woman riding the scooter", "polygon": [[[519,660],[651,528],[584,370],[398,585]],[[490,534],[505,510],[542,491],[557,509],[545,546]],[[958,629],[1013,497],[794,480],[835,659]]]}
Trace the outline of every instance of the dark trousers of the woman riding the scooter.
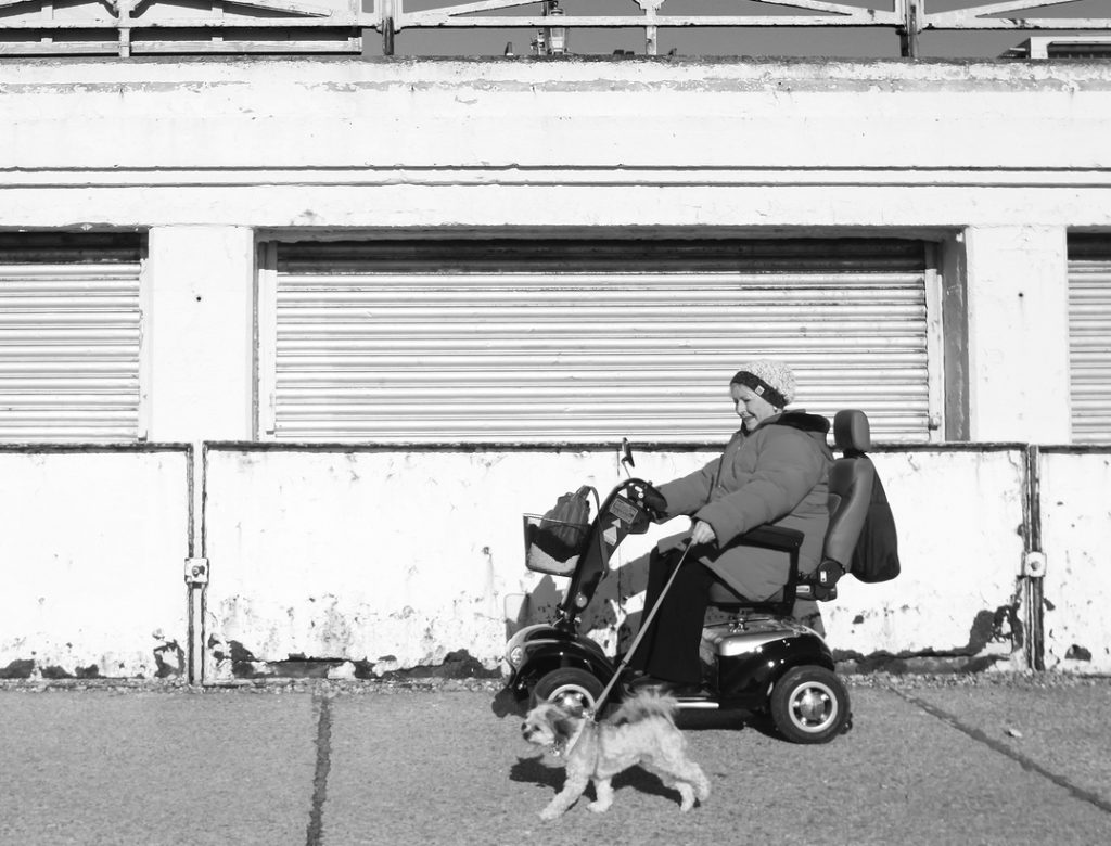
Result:
{"label": "dark trousers of the woman riding the scooter", "polygon": [[[679,555],[653,551],[648,565],[648,590],[641,625],[663,592],[675,570]],[[640,642],[629,665],[655,678],[681,684],[702,681],[699,644],[710,602],[710,585],[715,576],[693,556],[687,558],[671,584],[651,627]]]}

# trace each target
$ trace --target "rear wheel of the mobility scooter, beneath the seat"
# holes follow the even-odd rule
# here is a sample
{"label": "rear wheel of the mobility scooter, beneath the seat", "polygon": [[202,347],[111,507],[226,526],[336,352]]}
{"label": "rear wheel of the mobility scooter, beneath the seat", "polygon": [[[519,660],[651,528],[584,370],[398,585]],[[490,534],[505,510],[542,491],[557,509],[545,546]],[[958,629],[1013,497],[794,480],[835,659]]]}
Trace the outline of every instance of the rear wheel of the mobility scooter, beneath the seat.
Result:
{"label": "rear wheel of the mobility scooter, beneath the seat", "polygon": [[772,688],[771,718],[789,741],[828,743],[849,723],[849,692],[825,667],[793,667]]}

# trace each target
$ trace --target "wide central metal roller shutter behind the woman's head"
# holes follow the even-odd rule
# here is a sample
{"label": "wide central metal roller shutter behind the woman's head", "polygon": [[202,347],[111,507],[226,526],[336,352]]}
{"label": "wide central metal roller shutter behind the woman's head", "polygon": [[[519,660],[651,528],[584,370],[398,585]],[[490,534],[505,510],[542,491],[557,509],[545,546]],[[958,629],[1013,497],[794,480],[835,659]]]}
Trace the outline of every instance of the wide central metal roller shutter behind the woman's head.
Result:
{"label": "wide central metal roller shutter behind the woman's head", "polygon": [[930,439],[919,242],[297,243],[274,265],[276,439],[720,443],[761,356],[799,407]]}

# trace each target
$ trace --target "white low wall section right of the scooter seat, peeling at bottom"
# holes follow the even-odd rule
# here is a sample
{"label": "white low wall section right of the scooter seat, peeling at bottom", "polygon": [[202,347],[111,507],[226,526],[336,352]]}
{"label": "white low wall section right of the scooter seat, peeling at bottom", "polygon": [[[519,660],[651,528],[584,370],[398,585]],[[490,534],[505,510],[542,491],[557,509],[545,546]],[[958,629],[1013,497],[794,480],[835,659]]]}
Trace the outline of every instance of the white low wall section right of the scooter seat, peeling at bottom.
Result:
{"label": "white low wall section right of the scooter seat, peeling at bottom", "polygon": [[[861,655],[994,655],[1001,667],[1020,668],[1021,648],[1012,654],[1010,639],[985,643],[983,628],[984,615],[1020,602],[1022,453],[873,460],[898,521],[902,572],[873,585],[844,578],[838,598],[822,606],[830,643]],[[1015,612],[1021,620],[1025,608]]]}

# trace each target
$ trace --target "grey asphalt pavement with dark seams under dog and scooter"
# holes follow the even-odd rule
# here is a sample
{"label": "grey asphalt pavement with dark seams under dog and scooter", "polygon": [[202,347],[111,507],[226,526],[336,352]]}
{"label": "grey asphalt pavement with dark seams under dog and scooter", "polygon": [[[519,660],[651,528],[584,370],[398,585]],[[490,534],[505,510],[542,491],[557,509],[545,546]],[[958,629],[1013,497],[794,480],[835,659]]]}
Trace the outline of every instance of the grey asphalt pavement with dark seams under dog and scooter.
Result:
{"label": "grey asphalt pavement with dark seams under dog and scooter", "polygon": [[849,679],[823,746],[684,717],[713,794],[632,771],[612,809],[539,810],[562,771],[477,679],[420,689],[0,687],[0,843],[1107,844],[1111,681]]}

